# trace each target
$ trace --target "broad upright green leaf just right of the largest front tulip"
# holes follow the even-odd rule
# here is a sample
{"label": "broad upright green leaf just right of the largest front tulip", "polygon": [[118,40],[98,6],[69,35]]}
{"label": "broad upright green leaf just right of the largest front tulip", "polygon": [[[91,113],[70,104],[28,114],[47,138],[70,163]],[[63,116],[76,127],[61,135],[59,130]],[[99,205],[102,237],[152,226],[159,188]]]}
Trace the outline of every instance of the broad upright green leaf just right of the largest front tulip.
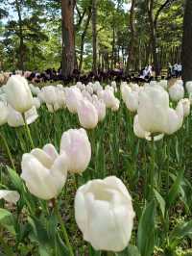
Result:
{"label": "broad upright green leaf just right of the largest front tulip", "polygon": [[150,256],[155,247],[156,201],[147,203],[138,224],[137,246],[141,256]]}

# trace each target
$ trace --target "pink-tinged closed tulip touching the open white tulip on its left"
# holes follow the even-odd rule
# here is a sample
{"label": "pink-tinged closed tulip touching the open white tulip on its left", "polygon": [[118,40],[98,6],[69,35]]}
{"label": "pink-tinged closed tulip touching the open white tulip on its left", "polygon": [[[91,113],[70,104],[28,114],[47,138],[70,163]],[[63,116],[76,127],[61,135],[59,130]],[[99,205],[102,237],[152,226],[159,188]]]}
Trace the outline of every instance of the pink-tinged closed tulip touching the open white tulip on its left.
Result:
{"label": "pink-tinged closed tulip touching the open white tulip on its left", "polygon": [[68,171],[82,173],[91,158],[91,145],[83,128],[70,129],[62,134],[60,153],[68,158]]}

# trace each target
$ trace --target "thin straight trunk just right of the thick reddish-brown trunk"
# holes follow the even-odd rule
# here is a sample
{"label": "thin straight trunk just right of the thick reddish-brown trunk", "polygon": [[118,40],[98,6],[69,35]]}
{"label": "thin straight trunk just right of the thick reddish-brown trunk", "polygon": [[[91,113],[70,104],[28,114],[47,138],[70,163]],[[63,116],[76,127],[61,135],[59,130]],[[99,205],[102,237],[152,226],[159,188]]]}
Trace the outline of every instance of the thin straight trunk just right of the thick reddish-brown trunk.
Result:
{"label": "thin straight trunk just right of the thick reddish-brown trunk", "polygon": [[95,74],[97,74],[97,0],[92,0],[92,46],[93,46],[92,71]]}

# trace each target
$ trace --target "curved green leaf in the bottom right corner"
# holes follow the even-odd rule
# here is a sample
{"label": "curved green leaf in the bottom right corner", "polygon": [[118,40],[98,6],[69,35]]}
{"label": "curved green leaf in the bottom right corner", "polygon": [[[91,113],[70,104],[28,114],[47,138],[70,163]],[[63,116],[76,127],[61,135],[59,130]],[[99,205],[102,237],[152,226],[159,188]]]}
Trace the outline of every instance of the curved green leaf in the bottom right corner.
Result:
{"label": "curved green leaf in the bottom right corner", "polygon": [[181,223],[172,230],[169,237],[171,246],[176,247],[186,236],[192,236],[192,220]]}

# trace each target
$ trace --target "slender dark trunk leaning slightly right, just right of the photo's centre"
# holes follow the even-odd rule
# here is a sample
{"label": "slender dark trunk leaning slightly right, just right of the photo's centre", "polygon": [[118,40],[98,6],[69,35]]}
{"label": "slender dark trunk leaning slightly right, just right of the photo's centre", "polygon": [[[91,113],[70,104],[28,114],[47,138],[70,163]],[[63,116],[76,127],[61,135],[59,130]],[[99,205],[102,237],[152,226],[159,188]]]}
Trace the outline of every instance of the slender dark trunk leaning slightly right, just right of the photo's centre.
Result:
{"label": "slender dark trunk leaning slightly right, just right of the photo's centre", "polygon": [[129,57],[127,62],[127,74],[129,73],[130,68],[133,66],[134,56],[134,41],[135,41],[135,27],[134,27],[134,8],[135,8],[136,0],[132,0],[132,7],[131,7],[131,13],[130,13],[130,29],[131,29],[131,41],[130,41],[130,47],[129,47]]}

